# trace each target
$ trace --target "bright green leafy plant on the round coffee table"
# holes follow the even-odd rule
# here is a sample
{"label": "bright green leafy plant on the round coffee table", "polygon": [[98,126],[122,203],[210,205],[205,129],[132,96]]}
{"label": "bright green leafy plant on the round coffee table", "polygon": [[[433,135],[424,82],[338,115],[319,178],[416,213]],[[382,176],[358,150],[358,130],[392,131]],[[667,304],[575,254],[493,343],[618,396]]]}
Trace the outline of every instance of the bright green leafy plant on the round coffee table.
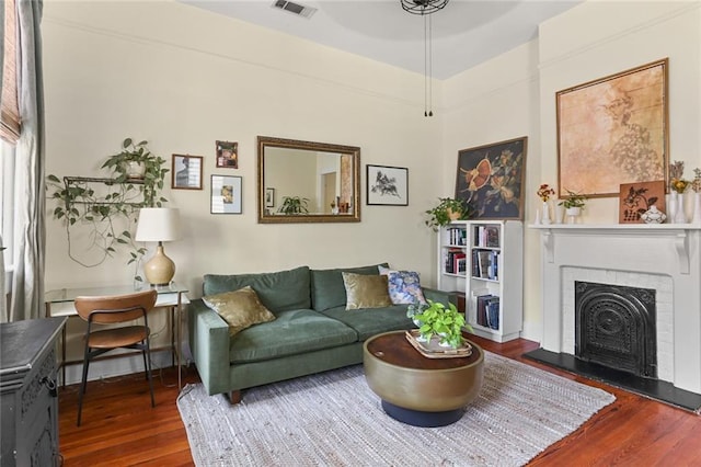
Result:
{"label": "bright green leafy plant on the round coffee table", "polygon": [[422,339],[430,342],[434,335],[440,337],[440,344],[458,349],[462,345],[462,329],[472,332],[472,327],[464,320],[453,304],[446,307],[438,301],[428,300],[428,307],[413,316],[414,321],[421,323],[418,332]]}

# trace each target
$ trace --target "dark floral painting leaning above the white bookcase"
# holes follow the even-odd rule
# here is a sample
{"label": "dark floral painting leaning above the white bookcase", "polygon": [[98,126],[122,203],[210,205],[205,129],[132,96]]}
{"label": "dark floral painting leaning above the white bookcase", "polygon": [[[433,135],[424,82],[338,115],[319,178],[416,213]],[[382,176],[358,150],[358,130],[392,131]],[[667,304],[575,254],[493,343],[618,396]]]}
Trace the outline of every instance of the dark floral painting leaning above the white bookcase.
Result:
{"label": "dark floral painting leaning above the white bookcase", "polygon": [[466,200],[472,218],[524,219],[528,137],[458,152],[456,198]]}

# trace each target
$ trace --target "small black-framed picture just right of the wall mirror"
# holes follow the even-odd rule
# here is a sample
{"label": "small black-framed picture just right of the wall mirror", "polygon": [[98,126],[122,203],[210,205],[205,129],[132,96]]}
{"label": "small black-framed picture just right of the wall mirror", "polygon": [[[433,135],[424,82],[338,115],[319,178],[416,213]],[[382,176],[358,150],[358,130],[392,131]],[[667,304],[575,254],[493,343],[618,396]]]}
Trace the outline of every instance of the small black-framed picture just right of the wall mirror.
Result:
{"label": "small black-framed picture just right of the wall mirror", "polygon": [[366,166],[366,204],[409,206],[409,169],[386,166]]}

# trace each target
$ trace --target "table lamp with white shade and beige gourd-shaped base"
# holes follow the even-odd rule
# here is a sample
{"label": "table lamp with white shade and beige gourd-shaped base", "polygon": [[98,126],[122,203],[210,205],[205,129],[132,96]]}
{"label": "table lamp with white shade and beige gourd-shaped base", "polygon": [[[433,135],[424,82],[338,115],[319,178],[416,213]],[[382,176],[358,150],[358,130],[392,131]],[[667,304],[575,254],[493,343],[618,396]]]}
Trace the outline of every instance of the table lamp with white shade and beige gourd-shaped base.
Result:
{"label": "table lamp with white shade and beige gourd-shaped base", "polygon": [[152,285],[168,285],[175,275],[175,263],[163,252],[163,242],[180,238],[180,209],[143,207],[139,210],[136,241],[158,241],[156,254],[143,264],[146,280]]}

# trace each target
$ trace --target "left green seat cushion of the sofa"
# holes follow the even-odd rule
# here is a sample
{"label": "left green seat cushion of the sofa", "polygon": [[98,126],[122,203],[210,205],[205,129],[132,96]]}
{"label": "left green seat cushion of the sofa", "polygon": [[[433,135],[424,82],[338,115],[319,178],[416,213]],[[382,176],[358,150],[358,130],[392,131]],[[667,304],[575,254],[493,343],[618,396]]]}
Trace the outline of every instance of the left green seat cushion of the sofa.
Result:
{"label": "left green seat cushion of the sofa", "polygon": [[231,339],[230,362],[260,362],[356,342],[358,334],[341,321],[310,309],[288,310],[275,321],[254,326]]}

